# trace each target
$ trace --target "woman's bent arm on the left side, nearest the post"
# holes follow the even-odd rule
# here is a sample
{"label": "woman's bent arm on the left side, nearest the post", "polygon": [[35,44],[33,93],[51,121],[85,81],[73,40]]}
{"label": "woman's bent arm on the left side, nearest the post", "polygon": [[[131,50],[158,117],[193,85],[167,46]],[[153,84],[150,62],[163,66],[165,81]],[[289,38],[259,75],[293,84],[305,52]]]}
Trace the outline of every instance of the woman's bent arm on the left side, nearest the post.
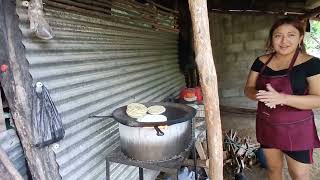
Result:
{"label": "woman's bent arm on the left side, nearest the post", "polygon": [[248,78],[247,78],[246,86],[244,88],[244,94],[249,99],[254,100],[254,101],[257,101],[256,81],[258,79],[258,75],[259,75],[258,72],[250,71]]}

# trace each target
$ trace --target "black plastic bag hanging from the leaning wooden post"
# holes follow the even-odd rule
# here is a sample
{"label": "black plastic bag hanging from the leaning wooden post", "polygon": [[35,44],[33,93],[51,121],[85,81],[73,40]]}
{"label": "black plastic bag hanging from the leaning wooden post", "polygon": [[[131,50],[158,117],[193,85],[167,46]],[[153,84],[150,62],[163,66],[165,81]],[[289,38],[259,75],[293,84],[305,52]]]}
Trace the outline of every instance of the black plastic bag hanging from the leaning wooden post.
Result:
{"label": "black plastic bag hanging from the leaning wooden post", "polygon": [[48,89],[37,82],[32,88],[32,123],[33,145],[44,147],[64,137],[61,117],[55,107]]}

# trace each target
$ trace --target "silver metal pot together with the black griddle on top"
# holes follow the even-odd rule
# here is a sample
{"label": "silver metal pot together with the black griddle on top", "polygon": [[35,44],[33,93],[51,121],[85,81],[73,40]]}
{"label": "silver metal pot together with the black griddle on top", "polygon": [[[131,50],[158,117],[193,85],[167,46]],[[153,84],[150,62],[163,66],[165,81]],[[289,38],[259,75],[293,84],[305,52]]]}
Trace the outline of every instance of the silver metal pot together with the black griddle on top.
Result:
{"label": "silver metal pot together with the black griddle on top", "polygon": [[167,122],[142,123],[130,118],[121,107],[113,113],[120,122],[121,151],[130,158],[142,161],[164,161],[188,148],[192,140],[191,119],[195,109],[175,103],[147,103],[166,107]]}

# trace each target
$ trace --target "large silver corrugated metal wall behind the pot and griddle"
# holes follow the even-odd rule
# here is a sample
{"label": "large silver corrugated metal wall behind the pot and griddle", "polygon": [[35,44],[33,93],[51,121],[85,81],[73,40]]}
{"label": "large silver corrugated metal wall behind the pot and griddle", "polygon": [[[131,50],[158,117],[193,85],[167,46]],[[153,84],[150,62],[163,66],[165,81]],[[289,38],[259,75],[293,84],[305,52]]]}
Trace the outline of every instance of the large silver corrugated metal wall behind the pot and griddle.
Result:
{"label": "large silver corrugated metal wall behind the pot and griddle", "polygon": [[[104,179],[105,157],[118,145],[110,115],[130,102],[161,101],[184,86],[178,68],[176,17],[135,1],[44,1],[53,40],[34,37],[17,1],[34,82],[43,82],[62,115],[65,138],[53,146],[63,179]],[[113,179],[138,170],[113,164]]]}

